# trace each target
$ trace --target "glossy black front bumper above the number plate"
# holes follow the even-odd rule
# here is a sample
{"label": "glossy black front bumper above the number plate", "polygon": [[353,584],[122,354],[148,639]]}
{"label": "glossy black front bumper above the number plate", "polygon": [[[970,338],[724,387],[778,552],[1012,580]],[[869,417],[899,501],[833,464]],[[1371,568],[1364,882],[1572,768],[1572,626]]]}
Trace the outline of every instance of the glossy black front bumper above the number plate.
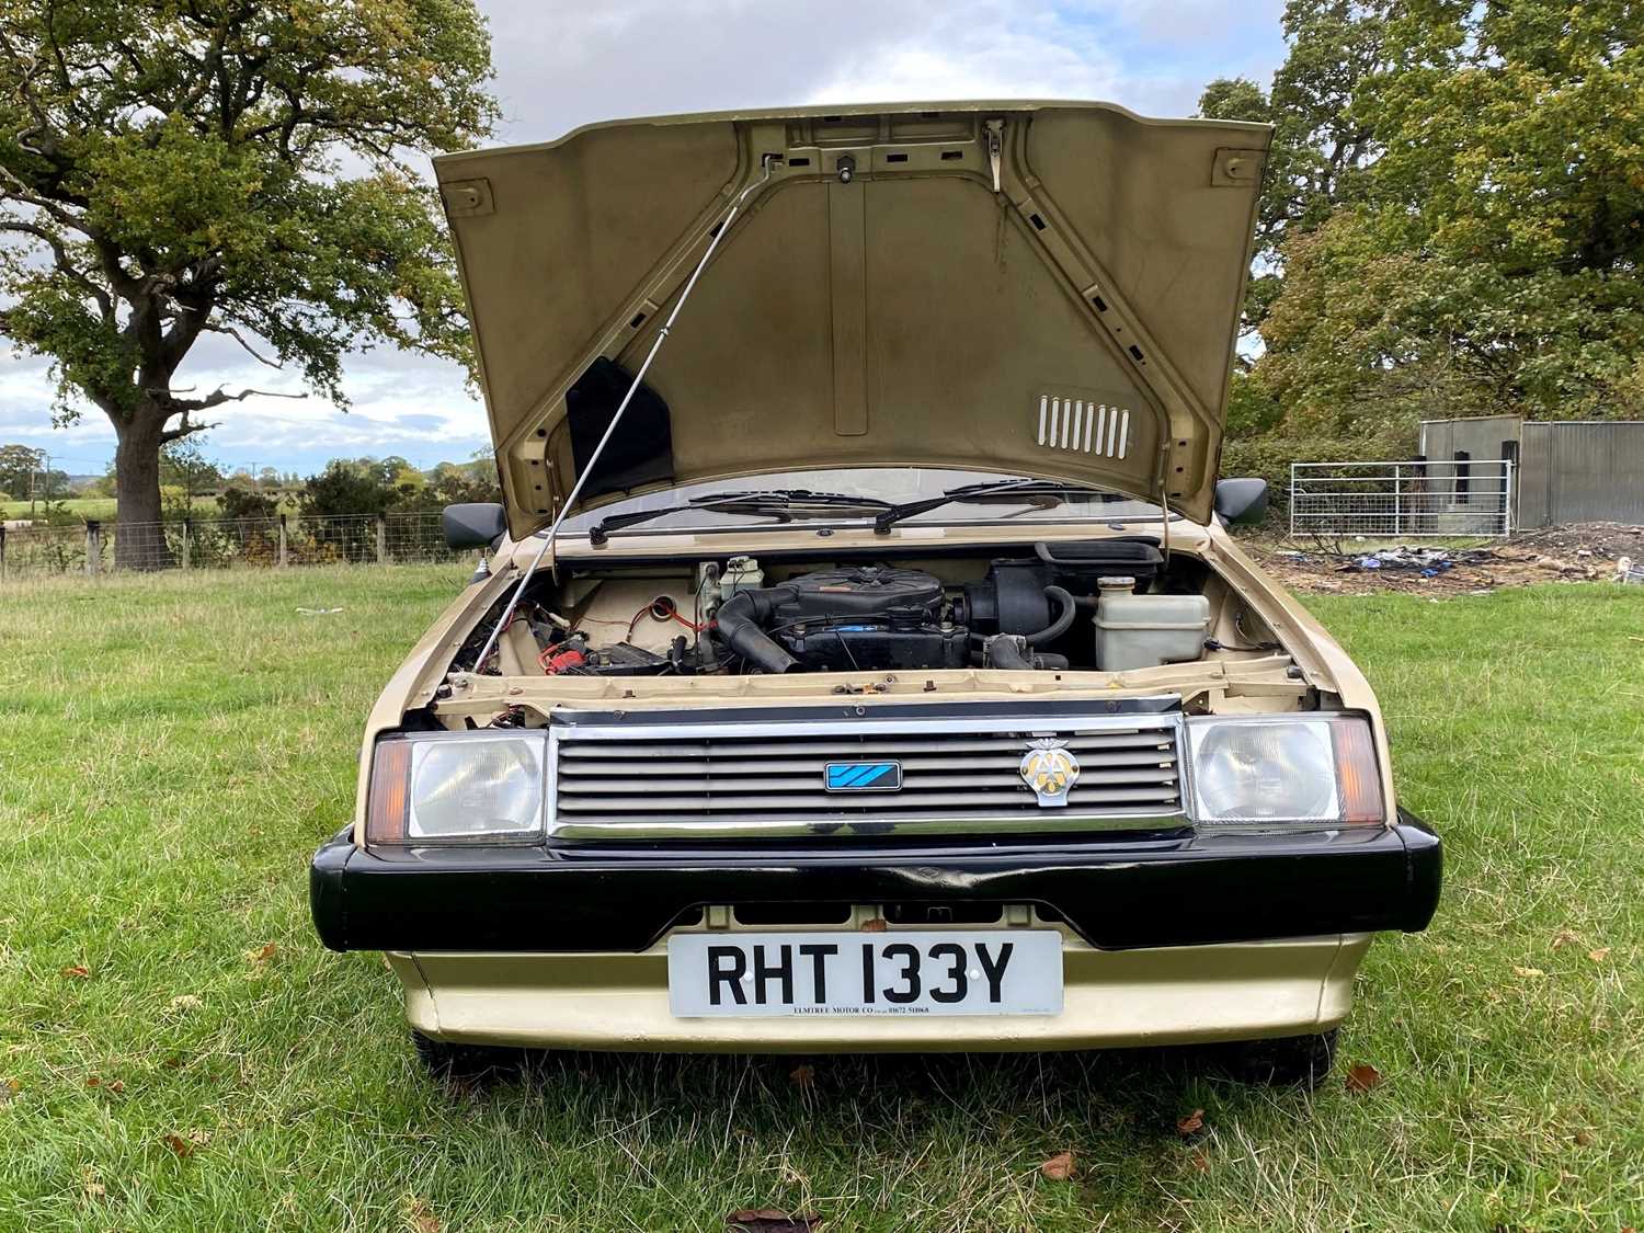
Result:
{"label": "glossy black front bumper above the number plate", "polygon": [[314,853],[309,899],[332,950],[644,950],[684,912],[746,903],[1032,903],[1123,950],[1424,929],[1438,837],[1389,830],[917,848]]}

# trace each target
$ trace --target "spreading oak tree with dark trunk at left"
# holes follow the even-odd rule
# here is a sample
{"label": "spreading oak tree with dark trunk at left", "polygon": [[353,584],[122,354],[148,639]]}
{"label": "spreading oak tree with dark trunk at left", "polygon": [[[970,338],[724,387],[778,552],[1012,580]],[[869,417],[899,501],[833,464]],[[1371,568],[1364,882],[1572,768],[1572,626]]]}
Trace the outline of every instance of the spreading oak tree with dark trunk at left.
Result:
{"label": "spreading oak tree with dark trunk at left", "polygon": [[490,132],[490,76],[472,0],[0,0],[0,332],[49,357],[59,419],[109,416],[120,523],[255,393],[189,383],[206,334],[344,406],[350,350],[467,360],[421,161]]}

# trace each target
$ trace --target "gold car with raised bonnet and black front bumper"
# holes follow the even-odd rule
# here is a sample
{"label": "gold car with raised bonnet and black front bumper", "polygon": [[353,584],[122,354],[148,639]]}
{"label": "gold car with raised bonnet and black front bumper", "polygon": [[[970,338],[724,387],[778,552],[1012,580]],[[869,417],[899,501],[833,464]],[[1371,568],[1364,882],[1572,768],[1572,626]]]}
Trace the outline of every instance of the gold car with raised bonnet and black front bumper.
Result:
{"label": "gold car with raised bonnet and black front bumper", "polygon": [[[437,161],[505,506],[314,921],[424,1054],[1259,1042],[1438,901],[1217,480],[1269,130],[741,112]],[[689,302],[687,302],[689,298]],[[666,345],[664,345],[666,344]]]}

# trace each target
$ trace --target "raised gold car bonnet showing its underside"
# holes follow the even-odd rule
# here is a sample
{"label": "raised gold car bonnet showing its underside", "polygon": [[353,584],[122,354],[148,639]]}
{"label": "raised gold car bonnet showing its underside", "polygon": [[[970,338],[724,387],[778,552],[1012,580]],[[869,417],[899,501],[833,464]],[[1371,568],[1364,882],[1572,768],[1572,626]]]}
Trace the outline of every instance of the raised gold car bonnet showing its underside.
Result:
{"label": "raised gold car bonnet showing its underside", "polygon": [[1207,521],[1268,143],[1105,104],[898,104],[436,159],[513,534],[552,521],[748,186],[580,506],[931,465]]}

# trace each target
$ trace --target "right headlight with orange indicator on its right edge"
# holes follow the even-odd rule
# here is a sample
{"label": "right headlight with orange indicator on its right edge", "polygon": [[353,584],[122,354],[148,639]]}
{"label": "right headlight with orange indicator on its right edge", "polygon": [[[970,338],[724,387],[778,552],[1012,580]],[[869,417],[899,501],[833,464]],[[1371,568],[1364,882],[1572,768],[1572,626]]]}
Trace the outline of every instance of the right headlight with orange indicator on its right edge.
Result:
{"label": "right headlight with orange indicator on its right edge", "polygon": [[1376,743],[1363,715],[1192,718],[1197,822],[1381,822]]}

